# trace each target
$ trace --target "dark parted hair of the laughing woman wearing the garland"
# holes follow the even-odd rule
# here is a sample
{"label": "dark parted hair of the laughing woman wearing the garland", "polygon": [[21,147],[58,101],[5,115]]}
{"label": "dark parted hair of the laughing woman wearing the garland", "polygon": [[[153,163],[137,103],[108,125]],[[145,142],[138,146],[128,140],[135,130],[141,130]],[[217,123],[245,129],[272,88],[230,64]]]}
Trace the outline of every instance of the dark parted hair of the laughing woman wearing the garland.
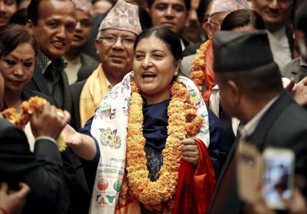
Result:
{"label": "dark parted hair of the laughing woman wearing the garland", "polygon": [[142,39],[148,38],[150,36],[158,37],[169,47],[175,62],[182,59],[182,47],[179,37],[172,30],[164,26],[153,26],[140,33],[134,42],[134,51],[136,49],[137,44]]}

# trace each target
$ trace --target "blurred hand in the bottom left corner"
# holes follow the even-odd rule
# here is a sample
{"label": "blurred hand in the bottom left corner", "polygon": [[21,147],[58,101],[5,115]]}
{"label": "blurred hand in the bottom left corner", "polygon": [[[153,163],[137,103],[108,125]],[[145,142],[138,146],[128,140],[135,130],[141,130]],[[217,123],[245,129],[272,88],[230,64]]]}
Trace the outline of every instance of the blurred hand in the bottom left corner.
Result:
{"label": "blurred hand in the bottom left corner", "polygon": [[10,214],[21,213],[26,201],[25,196],[30,192],[29,186],[25,183],[20,182],[19,187],[19,191],[9,191],[7,183],[3,182],[0,185],[0,206]]}

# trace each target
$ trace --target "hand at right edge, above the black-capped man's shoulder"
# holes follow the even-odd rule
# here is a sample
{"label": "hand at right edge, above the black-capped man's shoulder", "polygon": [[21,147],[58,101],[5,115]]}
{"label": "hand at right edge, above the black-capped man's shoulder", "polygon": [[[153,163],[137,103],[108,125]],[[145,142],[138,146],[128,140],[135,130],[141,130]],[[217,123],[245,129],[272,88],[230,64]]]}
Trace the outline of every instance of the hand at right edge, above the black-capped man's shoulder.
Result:
{"label": "hand at right edge, above the black-capped man's shoulder", "polygon": [[286,87],[292,94],[293,99],[301,106],[307,105],[307,77],[303,78],[296,85],[294,78],[290,79],[289,85]]}

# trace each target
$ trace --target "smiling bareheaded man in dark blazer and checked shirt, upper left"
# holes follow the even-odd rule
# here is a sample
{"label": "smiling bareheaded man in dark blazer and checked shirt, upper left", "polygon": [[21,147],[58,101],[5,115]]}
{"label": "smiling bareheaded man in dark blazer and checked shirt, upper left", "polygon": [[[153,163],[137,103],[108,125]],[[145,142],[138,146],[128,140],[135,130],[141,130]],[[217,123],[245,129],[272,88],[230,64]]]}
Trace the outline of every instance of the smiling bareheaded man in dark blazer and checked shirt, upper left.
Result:
{"label": "smiling bareheaded man in dark blazer and checked shirt, upper left", "polygon": [[77,24],[76,9],[69,0],[32,1],[26,26],[36,36],[39,51],[33,77],[26,88],[40,91],[55,101],[57,108],[71,112],[71,95],[66,63],[62,56],[70,48]]}

